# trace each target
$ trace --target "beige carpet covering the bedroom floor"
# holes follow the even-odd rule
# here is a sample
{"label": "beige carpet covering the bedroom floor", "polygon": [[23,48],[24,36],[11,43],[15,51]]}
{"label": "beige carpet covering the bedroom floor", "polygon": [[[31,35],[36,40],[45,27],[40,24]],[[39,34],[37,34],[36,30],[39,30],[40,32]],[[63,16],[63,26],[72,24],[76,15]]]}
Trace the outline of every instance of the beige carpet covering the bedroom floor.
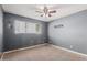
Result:
{"label": "beige carpet covering the bedroom floor", "polygon": [[87,57],[73,54],[52,45],[6,53],[4,61],[85,61]]}

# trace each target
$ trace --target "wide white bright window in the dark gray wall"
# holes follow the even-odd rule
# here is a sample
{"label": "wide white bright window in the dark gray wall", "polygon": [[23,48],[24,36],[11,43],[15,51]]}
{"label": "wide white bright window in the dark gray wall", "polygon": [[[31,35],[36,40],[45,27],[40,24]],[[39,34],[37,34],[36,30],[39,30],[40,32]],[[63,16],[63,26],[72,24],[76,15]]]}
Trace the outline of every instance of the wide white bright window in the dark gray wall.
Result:
{"label": "wide white bright window in the dark gray wall", "polygon": [[15,21],[14,22],[14,30],[15,34],[18,33],[41,33],[41,24],[39,23],[30,23],[30,22],[22,22],[22,21]]}

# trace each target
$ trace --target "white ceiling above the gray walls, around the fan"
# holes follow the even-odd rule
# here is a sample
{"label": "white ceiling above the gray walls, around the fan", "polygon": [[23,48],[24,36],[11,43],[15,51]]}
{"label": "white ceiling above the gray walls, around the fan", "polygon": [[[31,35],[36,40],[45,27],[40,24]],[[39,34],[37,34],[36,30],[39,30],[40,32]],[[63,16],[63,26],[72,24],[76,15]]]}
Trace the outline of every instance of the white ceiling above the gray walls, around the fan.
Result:
{"label": "white ceiling above the gray walls, around the fan", "polygon": [[14,13],[32,19],[37,19],[41,21],[52,21],[55,19],[59,19],[83,10],[87,9],[85,4],[53,4],[47,6],[51,10],[56,10],[56,13],[53,13],[51,18],[40,17],[41,14],[35,12],[36,10],[41,10],[43,6],[41,4],[3,4],[3,11],[9,13]]}

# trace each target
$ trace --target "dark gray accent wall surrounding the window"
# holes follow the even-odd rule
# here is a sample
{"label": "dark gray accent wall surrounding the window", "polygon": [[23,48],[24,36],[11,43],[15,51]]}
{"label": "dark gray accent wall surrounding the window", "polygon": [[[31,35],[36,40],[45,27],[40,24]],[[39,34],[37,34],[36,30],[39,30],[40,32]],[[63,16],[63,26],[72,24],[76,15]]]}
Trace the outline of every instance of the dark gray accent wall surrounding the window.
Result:
{"label": "dark gray accent wall surrounding the window", "polygon": [[[21,47],[26,47],[31,45],[43,44],[47,42],[47,23],[39,20],[33,20],[30,18],[24,18],[11,13],[4,13],[3,20],[3,51],[10,51]],[[32,22],[32,23],[41,23],[42,24],[42,33],[41,34],[14,34],[14,29],[9,29],[9,22],[13,25],[14,20]]]}

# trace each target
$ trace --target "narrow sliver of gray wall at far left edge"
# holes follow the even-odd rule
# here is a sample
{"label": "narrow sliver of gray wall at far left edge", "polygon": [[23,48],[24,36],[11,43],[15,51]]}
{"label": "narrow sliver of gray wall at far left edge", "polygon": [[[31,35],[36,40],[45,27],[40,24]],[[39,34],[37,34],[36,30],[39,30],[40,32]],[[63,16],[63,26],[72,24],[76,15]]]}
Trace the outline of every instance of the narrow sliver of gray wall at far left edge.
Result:
{"label": "narrow sliver of gray wall at far left edge", "polygon": [[2,40],[3,40],[3,14],[2,14],[2,9],[0,6],[0,52],[2,51]]}

